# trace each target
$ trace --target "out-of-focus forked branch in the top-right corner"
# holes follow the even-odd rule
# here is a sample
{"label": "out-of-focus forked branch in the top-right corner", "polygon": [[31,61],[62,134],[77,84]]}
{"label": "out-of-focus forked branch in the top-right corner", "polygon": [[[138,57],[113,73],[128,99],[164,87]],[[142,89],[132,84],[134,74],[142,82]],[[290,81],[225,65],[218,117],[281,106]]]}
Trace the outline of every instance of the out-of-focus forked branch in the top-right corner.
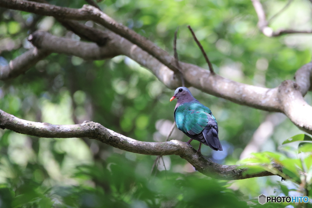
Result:
{"label": "out-of-focus forked branch in the top-right corner", "polygon": [[278,12],[276,15],[274,15],[270,21],[268,22],[266,20],[266,13],[262,7],[262,4],[260,2],[260,0],[251,0],[252,2],[252,5],[254,6],[255,8],[255,11],[257,13],[257,16],[258,16],[258,28],[259,30],[265,35],[265,36],[268,36],[268,37],[276,37],[276,36],[280,36],[280,35],[284,35],[284,34],[292,34],[292,33],[312,33],[312,30],[304,30],[304,31],[298,31],[298,30],[292,30],[292,29],[287,29],[287,30],[284,30],[284,29],[279,29],[277,30],[276,32],[273,31],[273,29],[271,27],[269,27],[269,22],[275,18],[277,15],[280,14],[280,12],[282,12],[286,7],[289,6],[289,4],[291,3],[291,1],[289,1],[286,6],[280,11]]}

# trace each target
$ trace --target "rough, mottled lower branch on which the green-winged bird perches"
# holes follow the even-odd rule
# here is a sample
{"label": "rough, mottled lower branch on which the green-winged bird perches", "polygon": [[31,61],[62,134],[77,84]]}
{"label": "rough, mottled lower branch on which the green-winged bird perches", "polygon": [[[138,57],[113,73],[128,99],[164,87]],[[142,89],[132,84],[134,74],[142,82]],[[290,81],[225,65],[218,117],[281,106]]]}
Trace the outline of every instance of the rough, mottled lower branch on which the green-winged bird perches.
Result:
{"label": "rough, mottled lower branch on which the green-winged bird perches", "polygon": [[[7,128],[17,133],[45,138],[88,137],[115,148],[145,155],[178,155],[191,163],[202,174],[222,180],[238,180],[274,175],[268,171],[247,173],[248,167],[259,166],[260,164],[258,163],[220,165],[201,154],[197,154],[196,150],[189,147],[185,142],[178,140],[171,140],[169,142],[141,142],[107,129],[99,123],[90,121],[76,125],[53,125],[50,123],[38,123],[18,119],[0,110],[0,128]],[[282,171],[281,165],[277,163],[272,163],[271,165],[280,172]]]}

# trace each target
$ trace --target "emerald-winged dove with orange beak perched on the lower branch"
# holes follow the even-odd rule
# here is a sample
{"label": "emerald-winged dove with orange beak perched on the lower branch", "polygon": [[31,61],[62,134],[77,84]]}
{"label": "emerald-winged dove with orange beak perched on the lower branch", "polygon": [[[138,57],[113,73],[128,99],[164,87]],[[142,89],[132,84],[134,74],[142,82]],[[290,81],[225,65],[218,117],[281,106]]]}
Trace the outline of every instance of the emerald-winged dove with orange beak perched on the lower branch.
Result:
{"label": "emerald-winged dove with orange beak perched on the lower branch", "polygon": [[170,102],[175,98],[178,101],[174,109],[174,120],[178,129],[191,138],[187,143],[191,146],[193,139],[199,141],[197,152],[200,152],[202,143],[221,151],[218,123],[211,110],[195,99],[186,87],[178,87]]}

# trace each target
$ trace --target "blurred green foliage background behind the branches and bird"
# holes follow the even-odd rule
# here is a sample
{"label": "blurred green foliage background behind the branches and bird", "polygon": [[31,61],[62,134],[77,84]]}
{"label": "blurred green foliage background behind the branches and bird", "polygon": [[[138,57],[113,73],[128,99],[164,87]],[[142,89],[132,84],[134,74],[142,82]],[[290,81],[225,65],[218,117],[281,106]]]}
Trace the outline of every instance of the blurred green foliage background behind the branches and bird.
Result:
{"label": "blurred green foliage background behind the branches and bird", "polygon": [[[49,3],[71,8],[86,4]],[[270,19],[288,1],[261,3]],[[208,69],[186,27],[191,25],[215,72],[250,85],[274,88],[293,79],[312,56],[310,34],[264,36],[249,0],[105,0],[98,5],[171,55],[179,27],[179,59]],[[309,30],[311,11],[310,1],[294,0],[270,27]],[[91,21],[85,24],[98,27]],[[53,17],[0,8],[0,66],[32,48],[27,37],[36,30],[80,40]],[[223,151],[202,146],[202,154],[215,162],[233,165],[251,152],[283,152],[281,143],[302,133],[283,114],[189,89],[218,121]],[[51,54],[26,74],[0,81],[0,109],[36,122],[94,121],[130,138],[161,142],[173,123],[173,92],[125,56],[85,61]],[[312,104],[310,92],[305,99]],[[177,128],[170,139],[188,141]],[[199,143],[192,145],[197,149]],[[175,155],[164,156],[152,171],[155,159],[88,138],[37,138],[0,129],[0,207],[257,207],[260,194],[283,196],[285,188],[297,188],[277,176],[216,180]],[[278,206],[286,205],[274,204]]]}

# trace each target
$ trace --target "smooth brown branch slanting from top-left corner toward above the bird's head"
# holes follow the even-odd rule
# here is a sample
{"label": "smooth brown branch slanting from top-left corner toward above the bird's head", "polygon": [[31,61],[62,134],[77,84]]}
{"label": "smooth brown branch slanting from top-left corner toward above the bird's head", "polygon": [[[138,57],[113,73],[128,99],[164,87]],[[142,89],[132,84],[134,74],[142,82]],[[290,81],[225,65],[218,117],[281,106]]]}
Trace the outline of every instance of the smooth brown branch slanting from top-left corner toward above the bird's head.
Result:
{"label": "smooth brown branch slanting from top-left corner toward above the bird's head", "polygon": [[116,34],[138,45],[144,51],[148,52],[156,59],[158,59],[161,63],[166,65],[169,69],[178,72],[178,69],[171,64],[171,61],[173,59],[172,56],[170,56],[166,51],[162,50],[153,42],[137,34],[130,28],[116,22],[114,19],[107,16],[105,13],[101,12],[99,9],[93,6],[84,5],[80,9],[72,9],[67,7],[58,7],[45,3],[28,2],[24,0],[0,0],[0,6],[25,12],[32,12],[40,15],[53,16],[56,18],[72,20],[93,20],[94,22],[103,25],[104,27],[110,29]]}

